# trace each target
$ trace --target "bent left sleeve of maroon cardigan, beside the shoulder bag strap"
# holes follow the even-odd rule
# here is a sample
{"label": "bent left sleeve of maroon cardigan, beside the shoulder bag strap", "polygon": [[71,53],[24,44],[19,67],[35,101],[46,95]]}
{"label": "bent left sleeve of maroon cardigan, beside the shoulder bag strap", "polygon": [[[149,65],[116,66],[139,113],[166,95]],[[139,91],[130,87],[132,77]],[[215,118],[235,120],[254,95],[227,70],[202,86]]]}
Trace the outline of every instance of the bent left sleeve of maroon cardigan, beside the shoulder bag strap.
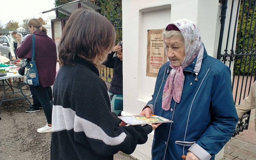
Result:
{"label": "bent left sleeve of maroon cardigan, beside the shoulder bag strap", "polygon": [[16,49],[16,54],[19,58],[31,59],[32,50],[32,35],[29,35],[22,43],[22,45]]}

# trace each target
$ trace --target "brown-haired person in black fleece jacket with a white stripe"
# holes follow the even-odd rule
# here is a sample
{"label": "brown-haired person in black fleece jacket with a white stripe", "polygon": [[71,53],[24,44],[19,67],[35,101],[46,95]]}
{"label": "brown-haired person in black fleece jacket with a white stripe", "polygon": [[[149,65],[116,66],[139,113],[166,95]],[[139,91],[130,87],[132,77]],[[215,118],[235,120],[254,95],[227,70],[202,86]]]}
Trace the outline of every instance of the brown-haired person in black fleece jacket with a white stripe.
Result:
{"label": "brown-haired person in black fleece jacket with a white stripe", "polygon": [[160,125],[122,126],[111,112],[97,66],[115,39],[115,28],[99,13],[71,14],[58,47],[62,67],[53,85],[51,160],[113,160],[119,150],[131,154]]}

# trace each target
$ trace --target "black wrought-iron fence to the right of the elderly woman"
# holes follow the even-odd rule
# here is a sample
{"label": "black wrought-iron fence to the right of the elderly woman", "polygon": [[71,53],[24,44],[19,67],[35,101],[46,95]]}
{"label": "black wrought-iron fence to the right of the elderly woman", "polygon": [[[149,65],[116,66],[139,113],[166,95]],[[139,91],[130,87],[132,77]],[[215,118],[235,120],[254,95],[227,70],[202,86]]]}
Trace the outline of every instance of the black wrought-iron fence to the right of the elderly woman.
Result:
{"label": "black wrought-iron fence to the right of the elderly woman", "polygon": [[[256,0],[238,0],[234,6],[232,0],[231,12],[228,26],[228,36],[223,42],[227,0],[221,0],[221,28],[217,58],[233,69],[232,91],[235,105],[248,96],[252,83],[256,80]],[[236,14],[233,14],[233,10]],[[235,19],[234,30],[231,21]],[[237,26],[236,26],[237,25]],[[237,27],[237,30],[236,30]],[[228,46],[229,36],[232,36],[232,45]],[[224,50],[221,49],[222,42],[226,43]],[[236,46],[234,46],[236,42]],[[237,124],[233,136],[248,129],[251,111],[245,113]]]}

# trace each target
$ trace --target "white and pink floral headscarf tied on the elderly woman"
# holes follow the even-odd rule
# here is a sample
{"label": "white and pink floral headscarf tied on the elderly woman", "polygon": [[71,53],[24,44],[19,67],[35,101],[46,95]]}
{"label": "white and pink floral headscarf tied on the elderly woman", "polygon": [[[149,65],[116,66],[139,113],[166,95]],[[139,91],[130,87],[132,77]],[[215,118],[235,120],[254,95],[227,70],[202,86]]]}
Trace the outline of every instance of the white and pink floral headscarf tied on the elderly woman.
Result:
{"label": "white and pink floral headscarf tied on the elderly woman", "polygon": [[[175,102],[179,103],[183,90],[183,84],[185,76],[183,69],[187,67],[198,55],[203,43],[201,41],[201,34],[198,27],[191,20],[181,19],[174,22],[169,22],[164,30],[167,29],[168,25],[175,25],[182,33],[185,40],[185,57],[180,66],[174,67],[170,61],[172,70],[168,76],[164,85],[162,108],[169,110],[171,105],[172,97]],[[165,44],[165,37],[163,35],[164,48],[167,54],[167,48]]]}

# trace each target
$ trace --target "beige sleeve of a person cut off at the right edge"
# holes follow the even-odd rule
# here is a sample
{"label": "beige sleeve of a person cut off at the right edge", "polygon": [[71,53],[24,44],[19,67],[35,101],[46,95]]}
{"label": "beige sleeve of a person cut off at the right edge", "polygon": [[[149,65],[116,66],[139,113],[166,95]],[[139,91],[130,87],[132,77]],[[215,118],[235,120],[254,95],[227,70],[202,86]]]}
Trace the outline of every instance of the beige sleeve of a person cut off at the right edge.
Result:
{"label": "beige sleeve of a person cut off at the right edge", "polygon": [[241,118],[245,112],[255,108],[255,90],[256,82],[252,84],[248,97],[242,100],[240,105],[236,106],[236,111],[239,118]]}

